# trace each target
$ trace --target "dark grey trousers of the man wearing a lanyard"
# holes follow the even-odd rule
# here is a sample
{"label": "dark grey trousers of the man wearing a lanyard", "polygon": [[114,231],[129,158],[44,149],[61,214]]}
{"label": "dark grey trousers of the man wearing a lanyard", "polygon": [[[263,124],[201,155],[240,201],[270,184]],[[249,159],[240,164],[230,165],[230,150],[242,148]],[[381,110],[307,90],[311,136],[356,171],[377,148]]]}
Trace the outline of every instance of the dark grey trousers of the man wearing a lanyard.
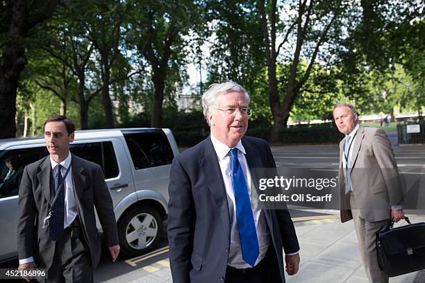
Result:
{"label": "dark grey trousers of the man wearing a lanyard", "polygon": [[71,238],[68,233],[56,241],[53,264],[49,269],[46,283],[88,283],[93,282],[93,268],[90,251],[83,233]]}

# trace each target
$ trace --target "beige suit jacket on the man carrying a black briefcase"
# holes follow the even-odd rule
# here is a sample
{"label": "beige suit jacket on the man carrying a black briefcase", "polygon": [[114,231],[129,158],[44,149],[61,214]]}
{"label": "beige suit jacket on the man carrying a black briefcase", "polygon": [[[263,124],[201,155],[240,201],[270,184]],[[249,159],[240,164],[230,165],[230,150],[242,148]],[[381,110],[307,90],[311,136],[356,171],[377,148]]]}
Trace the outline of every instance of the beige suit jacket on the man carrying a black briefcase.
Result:
{"label": "beige suit jacket on the man carrying a black briefcase", "polygon": [[403,191],[390,141],[383,130],[359,127],[351,155],[351,189],[356,207],[350,207],[345,194],[346,170],[343,168],[345,138],[340,142],[341,221],[353,218],[351,209],[369,222],[390,219],[390,205],[403,205]]}

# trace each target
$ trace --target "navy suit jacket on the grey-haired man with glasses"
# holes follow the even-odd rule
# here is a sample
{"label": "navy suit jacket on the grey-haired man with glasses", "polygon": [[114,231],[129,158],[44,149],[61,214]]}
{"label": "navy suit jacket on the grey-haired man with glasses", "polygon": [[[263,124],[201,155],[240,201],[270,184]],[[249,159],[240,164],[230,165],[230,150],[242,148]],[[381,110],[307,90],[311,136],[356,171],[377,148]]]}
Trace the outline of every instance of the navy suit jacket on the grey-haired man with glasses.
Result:
{"label": "navy suit jacket on the grey-haired man with glasses", "polygon": [[[276,168],[266,141],[242,138],[248,166]],[[251,170],[252,171],[252,170]],[[224,280],[230,247],[231,221],[217,154],[208,137],[177,155],[169,180],[169,261],[174,283]],[[263,210],[276,251],[271,271],[284,277],[282,248],[297,252],[299,244],[287,209]]]}

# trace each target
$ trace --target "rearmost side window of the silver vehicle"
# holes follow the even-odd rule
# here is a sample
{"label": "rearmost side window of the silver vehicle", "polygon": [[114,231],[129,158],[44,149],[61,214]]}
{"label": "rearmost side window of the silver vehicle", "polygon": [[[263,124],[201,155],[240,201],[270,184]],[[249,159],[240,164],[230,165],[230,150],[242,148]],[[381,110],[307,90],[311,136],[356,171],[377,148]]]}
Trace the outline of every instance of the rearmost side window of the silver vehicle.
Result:
{"label": "rearmost side window of the silver vehicle", "polygon": [[173,151],[163,130],[128,130],[123,134],[136,170],[172,163]]}

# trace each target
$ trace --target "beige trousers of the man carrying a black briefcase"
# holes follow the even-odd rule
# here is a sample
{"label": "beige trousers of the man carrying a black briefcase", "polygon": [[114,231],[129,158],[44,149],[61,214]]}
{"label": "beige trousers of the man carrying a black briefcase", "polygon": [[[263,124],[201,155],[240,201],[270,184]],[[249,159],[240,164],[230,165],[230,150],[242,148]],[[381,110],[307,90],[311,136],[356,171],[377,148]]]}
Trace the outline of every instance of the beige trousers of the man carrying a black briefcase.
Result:
{"label": "beige trousers of the man carrying a black briefcase", "polygon": [[[354,198],[355,196],[352,194],[350,198],[351,207],[355,207],[353,205]],[[360,256],[369,282],[388,283],[388,276],[381,271],[378,266],[375,239],[376,232],[387,230],[390,226],[390,219],[385,221],[369,222],[360,216],[358,209],[351,209],[351,214],[353,215],[354,225],[356,226]]]}

